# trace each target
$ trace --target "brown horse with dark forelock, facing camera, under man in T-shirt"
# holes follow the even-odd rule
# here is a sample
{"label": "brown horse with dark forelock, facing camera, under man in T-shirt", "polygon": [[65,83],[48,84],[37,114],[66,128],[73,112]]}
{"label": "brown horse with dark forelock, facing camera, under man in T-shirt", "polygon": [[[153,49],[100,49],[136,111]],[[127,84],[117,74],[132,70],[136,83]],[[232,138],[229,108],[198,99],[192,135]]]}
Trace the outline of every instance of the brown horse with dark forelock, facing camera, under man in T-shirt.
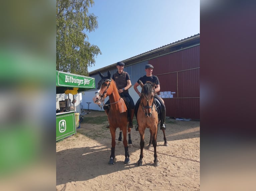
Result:
{"label": "brown horse with dark forelock, facing camera, under man in T-shirt", "polygon": [[144,133],[146,128],[149,128],[150,139],[152,137],[152,144],[154,147],[154,166],[159,166],[159,161],[157,159],[156,153],[156,138],[157,138],[157,125],[159,122],[157,111],[154,105],[154,95],[155,95],[155,83],[146,82],[144,85],[140,81],[141,90],[141,99],[140,106],[137,112],[137,121],[139,125],[140,133],[140,158],[137,162],[138,166],[142,165],[143,159],[143,148],[145,145],[144,142]]}

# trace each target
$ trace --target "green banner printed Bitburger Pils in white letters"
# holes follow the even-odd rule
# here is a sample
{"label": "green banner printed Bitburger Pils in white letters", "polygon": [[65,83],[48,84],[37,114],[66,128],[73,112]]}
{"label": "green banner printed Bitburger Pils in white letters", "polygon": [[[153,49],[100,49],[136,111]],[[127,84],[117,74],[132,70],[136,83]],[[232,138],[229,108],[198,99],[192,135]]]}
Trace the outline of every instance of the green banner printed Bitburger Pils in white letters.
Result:
{"label": "green banner printed Bitburger Pils in white letters", "polygon": [[56,86],[94,89],[95,78],[56,71]]}

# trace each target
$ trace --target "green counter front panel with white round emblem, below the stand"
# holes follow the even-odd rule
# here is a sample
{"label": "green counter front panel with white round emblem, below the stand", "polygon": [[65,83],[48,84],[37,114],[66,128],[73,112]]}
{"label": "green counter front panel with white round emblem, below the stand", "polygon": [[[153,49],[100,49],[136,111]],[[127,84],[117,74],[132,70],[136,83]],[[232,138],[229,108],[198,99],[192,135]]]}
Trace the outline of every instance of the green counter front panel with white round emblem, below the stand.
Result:
{"label": "green counter front panel with white round emblem, below the stand", "polygon": [[75,111],[56,113],[56,141],[77,132]]}

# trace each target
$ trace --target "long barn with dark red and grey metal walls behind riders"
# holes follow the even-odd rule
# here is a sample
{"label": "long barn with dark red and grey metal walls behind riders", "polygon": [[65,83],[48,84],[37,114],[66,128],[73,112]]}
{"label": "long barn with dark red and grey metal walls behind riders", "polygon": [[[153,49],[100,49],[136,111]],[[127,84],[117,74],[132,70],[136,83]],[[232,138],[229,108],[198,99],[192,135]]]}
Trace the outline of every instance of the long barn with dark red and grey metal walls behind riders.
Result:
{"label": "long barn with dark red and grey metal walls behind riders", "polygon": [[[177,42],[156,48],[132,58],[123,60],[124,71],[128,72],[131,83],[134,85],[137,80],[145,75],[145,65],[154,66],[153,75],[160,81],[160,95],[166,106],[166,116],[200,119],[200,34],[179,40]],[[116,63],[104,68],[92,71],[90,77],[95,78],[96,88],[100,81],[98,71],[107,75],[108,70],[114,74]],[[138,90],[141,88],[138,87]],[[96,90],[90,90],[81,95],[81,105],[87,109],[88,102],[93,102],[92,97]],[[139,96],[133,89],[129,89],[134,103]],[[84,97],[83,97],[84,96]],[[108,98],[105,100],[107,101]],[[101,110],[94,103],[90,109]]]}

